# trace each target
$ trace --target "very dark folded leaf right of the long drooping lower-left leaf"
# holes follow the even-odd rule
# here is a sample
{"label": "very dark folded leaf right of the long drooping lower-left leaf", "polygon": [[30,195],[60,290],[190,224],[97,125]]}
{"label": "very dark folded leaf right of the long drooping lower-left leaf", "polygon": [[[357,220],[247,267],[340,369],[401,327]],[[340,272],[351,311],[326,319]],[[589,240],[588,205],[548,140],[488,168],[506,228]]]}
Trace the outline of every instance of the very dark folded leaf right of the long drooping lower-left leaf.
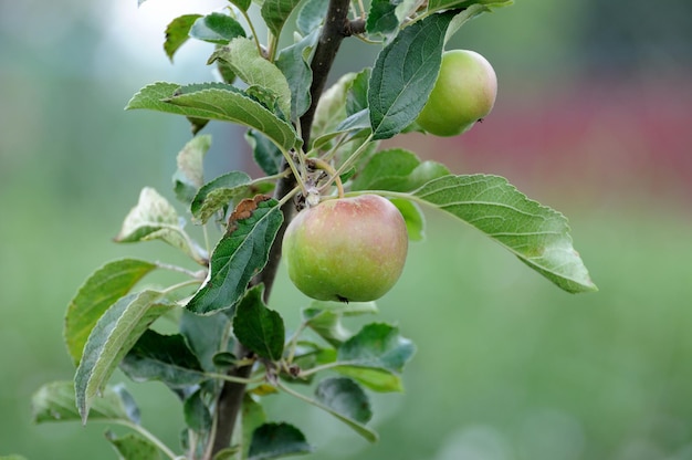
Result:
{"label": "very dark folded leaf right of the long drooping lower-left leaf", "polygon": [[159,380],[170,388],[182,388],[205,380],[197,356],[180,334],[162,335],[147,330],[120,363],[134,381]]}

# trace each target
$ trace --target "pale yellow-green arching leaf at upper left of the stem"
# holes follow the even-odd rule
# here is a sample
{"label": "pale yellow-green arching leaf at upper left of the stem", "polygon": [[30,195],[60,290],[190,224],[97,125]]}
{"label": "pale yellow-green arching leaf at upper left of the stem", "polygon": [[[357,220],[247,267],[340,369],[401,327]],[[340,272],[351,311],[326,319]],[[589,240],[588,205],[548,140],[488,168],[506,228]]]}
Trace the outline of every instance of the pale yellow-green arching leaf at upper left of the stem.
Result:
{"label": "pale yellow-green arching leaf at upper left of the stem", "polygon": [[245,38],[237,38],[226,46],[219,48],[209,58],[208,64],[217,60],[226,62],[233,73],[249,86],[269,90],[276,97],[279,108],[289,116],[291,114],[291,88],[284,74],[276,65],[260,54],[254,42]]}

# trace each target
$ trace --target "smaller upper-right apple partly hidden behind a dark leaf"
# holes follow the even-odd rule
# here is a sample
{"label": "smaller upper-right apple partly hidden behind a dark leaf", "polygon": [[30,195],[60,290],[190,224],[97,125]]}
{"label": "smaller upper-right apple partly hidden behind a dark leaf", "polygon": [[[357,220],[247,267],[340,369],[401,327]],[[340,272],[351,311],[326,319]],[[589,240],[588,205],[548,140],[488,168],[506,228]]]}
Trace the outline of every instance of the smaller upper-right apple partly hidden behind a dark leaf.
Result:
{"label": "smaller upper-right apple partly hidden behind a dark leaf", "polygon": [[497,77],[485,58],[474,51],[447,51],[438,80],[416,122],[436,136],[455,136],[487,116],[496,95]]}

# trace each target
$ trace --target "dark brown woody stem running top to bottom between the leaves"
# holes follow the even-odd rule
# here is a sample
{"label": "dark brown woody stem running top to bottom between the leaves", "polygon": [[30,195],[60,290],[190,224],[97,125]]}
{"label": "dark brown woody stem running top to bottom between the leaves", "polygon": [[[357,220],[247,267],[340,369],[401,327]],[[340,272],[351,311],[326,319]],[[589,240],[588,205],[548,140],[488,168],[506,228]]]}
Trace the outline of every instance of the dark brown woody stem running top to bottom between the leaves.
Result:
{"label": "dark brown woody stem running top to bottom between the leaves", "polygon": [[[361,32],[360,22],[350,22],[348,20],[348,7],[349,0],[329,0],[329,7],[327,9],[327,15],[325,23],[319,35],[319,42],[315,48],[315,54],[311,62],[311,69],[313,72],[313,82],[310,88],[312,103],[307,112],[301,117],[301,133],[303,135],[303,148],[308,149],[310,146],[310,132],[312,129],[313,119],[315,117],[315,109],[317,108],[317,102],[324,91],[327,82],[329,70],[334,64],[334,59],[342,44],[344,38],[352,35],[353,33]],[[357,20],[360,21],[360,20]],[[284,164],[284,169],[287,165]],[[291,191],[296,185],[295,178],[291,175],[279,181],[274,196],[277,199],[283,198],[289,191]],[[269,261],[264,270],[258,274],[252,281],[252,284],[264,283],[264,301],[269,302],[274,279],[276,278],[276,271],[281,262],[281,249],[283,234],[286,231],[286,227],[291,222],[293,215],[295,213],[295,207],[293,202],[287,201],[281,209],[284,216],[284,222],[279,229],[276,239],[270,250]],[[238,344],[235,349],[235,356],[243,358],[250,355],[250,351],[242,344]],[[233,377],[248,378],[252,372],[252,366],[239,366],[229,369],[228,374]],[[238,415],[242,407],[242,400],[245,393],[245,386],[226,381],[219,394],[219,398],[216,405],[216,429],[213,430],[213,439],[210,440],[211,449],[208,449],[208,456],[206,460],[210,460],[213,456],[222,449],[230,446],[233,437],[233,430],[238,420]]]}

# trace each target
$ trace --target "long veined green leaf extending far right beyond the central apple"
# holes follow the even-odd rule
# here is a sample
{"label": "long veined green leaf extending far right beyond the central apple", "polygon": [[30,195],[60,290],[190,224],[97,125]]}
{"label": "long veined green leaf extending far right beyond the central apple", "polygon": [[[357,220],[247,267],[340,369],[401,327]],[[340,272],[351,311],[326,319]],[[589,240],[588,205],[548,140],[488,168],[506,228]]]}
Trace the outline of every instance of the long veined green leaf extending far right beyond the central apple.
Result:
{"label": "long veined green leaf extending far right beyond the central apple", "polygon": [[412,195],[486,233],[563,290],[597,290],[572,245],[567,219],[528,199],[505,178],[445,176]]}

